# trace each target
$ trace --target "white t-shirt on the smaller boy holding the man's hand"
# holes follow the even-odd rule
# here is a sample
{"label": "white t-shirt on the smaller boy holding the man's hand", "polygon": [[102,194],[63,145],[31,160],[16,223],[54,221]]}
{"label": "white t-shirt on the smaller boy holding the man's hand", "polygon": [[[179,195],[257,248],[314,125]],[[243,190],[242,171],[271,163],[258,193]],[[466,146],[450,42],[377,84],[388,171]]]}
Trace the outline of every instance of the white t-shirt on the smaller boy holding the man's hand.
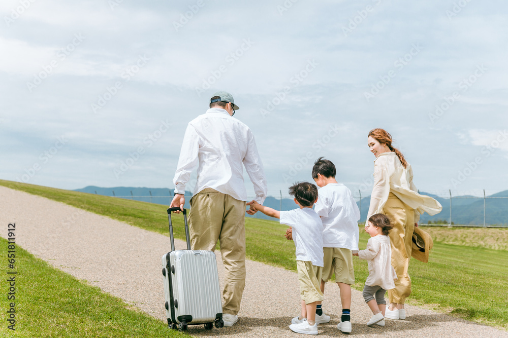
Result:
{"label": "white t-shirt on the smaller boy holding the man's hand", "polygon": [[280,212],[280,224],[293,228],[296,259],[323,267],[323,223],[311,208]]}

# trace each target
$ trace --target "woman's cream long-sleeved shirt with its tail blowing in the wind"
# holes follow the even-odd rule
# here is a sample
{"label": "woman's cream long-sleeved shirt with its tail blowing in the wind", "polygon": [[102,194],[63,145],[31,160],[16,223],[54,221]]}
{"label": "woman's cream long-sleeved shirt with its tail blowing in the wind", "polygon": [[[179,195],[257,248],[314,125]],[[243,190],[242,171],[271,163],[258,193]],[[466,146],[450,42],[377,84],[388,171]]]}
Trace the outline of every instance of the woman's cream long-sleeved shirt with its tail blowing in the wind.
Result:
{"label": "woman's cream long-sleeved shirt with its tail blowing in the wind", "polygon": [[418,194],[412,176],[411,166],[407,164],[404,168],[397,154],[393,152],[380,154],[374,160],[374,187],[370,196],[367,220],[374,214],[384,214],[383,207],[388,201],[390,193],[395,194],[402,202],[415,209],[415,222],[417,223],[423,212],[427,212],[429,215],[439,213],[442,209],[441,204],[430,196]]}

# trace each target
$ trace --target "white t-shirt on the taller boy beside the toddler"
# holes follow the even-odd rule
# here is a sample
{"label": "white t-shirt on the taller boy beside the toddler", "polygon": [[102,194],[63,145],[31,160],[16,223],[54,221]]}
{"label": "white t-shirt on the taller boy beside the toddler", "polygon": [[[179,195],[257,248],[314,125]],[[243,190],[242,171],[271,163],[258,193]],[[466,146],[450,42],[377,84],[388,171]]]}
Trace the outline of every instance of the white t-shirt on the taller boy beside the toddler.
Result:
{"label": "white t-shirt on the taller boy beside the toddler", "polygon": [[323,221],[325,248],[358,250],[360,209],[342,183],[329,183],[317,191],[315,212]]}

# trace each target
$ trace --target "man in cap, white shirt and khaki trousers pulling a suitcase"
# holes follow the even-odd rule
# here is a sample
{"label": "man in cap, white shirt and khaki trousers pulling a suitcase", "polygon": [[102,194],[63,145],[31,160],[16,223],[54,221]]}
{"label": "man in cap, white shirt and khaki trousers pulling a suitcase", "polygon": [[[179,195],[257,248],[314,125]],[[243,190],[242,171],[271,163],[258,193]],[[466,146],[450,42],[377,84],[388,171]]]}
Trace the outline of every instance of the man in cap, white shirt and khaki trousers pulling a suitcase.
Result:
{"label": "man in cap, white shirt and khaki trousers pulling a suitcase", "polygon": [[[254,185],[256,202],[263,204],[266,179],[256,142],[250,129],[233,118],[231,94],[220,91],[210,99],[210,109],[189,122],[183,137],[173,183],[170,207],[183,208],[185,184],[197,167],[198,178],[190,199],[189,233],[193,250],[215,250],[220,241],[224,262],[223,320],[232,326],[245,286],[245,207],[247,192],[243,166]],[[243,166],[242,166],[243,163]],[[256,211],[248,210],[253,215]]]}

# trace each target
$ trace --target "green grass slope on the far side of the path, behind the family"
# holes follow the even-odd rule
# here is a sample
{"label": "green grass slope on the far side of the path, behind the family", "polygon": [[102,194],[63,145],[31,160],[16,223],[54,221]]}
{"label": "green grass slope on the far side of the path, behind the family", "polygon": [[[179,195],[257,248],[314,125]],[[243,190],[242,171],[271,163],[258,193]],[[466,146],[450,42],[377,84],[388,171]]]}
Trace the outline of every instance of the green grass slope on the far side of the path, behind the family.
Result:
{"label": "green grass slope on the far side of the path, behind the family", "polygon": [[[1,185],[61,201],[168,235],[166,207],[145,202],[84,194],[0,180]],[[174,215],[175,237],[184,238],[183,219]],[[295,248],[283,237],[278,222],[245,219],[247,257],[296,271]],[[432,231],[437,231],[433,228]],[[481,239],[481,235],[475,235]],[[368,234],[360,229],[360,248]],[[354,257],[356,289],[363,289],[367,262]],[[508,251],[434,241],[428,264],[411,259],[413,290],[409,304],[428,307],[461,318],[508,329]]]}

